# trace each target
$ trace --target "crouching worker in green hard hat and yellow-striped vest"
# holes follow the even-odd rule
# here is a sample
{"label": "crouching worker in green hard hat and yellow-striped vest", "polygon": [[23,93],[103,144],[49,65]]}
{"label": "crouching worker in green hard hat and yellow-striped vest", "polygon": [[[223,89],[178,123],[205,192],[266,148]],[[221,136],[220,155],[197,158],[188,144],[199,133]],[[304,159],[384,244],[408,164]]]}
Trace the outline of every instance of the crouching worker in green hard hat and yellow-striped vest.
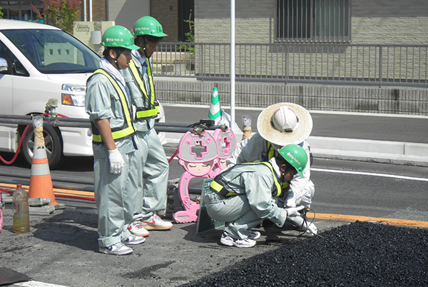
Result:
{"label": "crouching worker in green hard hat and yellow-striped vest", "polygon": [[253,247],[260,232],[251,228],[269,219],[282,227],[287,216],[300,216],[304,206],[280,208],[275,197],[282,196],[281,183],[291,181],[307,164],[307,153],[296,144],[284,146],[270,161],[240,163],[220,173],[205,193],[208,215],[226,223],[220,243]]}

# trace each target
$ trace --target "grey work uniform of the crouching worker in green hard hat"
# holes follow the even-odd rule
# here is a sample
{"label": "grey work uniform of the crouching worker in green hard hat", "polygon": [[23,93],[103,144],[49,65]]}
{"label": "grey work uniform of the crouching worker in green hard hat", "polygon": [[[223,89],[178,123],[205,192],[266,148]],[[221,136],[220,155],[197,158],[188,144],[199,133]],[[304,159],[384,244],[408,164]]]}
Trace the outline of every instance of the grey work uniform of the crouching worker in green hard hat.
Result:
{"label": "grey work uniform of the crouching worker in green hard hat", "polygon": [[[270,163],[275,161],[272,159]],[[272,163],[276,174],[280,170]],[[228,186],[239,193],[228,198],[220,197],[213,191],[204,195],[208,215],[216,221],[227,224],[225,231],[234,238],[248,238],[250,229],[270,219],[277,226],[283,226],[287,211],[277,206],[272,198],[275,181],[271,169],[265,164],[233,166],[224,173],[223,180]]]}

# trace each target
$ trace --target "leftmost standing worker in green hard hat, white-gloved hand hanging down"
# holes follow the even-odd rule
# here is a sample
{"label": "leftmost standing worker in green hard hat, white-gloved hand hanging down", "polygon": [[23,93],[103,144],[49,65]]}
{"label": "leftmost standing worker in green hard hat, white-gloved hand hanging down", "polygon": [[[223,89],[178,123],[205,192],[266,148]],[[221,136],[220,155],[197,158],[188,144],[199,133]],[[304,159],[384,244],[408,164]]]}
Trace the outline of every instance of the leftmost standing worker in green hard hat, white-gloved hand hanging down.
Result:
{"label": "leftmost standing worker in green hard hat, white-gloved hand hanging down", "polygon": [[[103,34],[105,47],[100,69],[88,79],[86,112],[92,126],[93,171],[98,209],[98,250],[101,253],[127,255],[145,241],[130,233],[138,191],[137,139],[132,124],[130,96],[121,69],[126,69],[134,45],[131,32],[123,26],[111,26]],[[140,234],[141,235],[141,234]]]}

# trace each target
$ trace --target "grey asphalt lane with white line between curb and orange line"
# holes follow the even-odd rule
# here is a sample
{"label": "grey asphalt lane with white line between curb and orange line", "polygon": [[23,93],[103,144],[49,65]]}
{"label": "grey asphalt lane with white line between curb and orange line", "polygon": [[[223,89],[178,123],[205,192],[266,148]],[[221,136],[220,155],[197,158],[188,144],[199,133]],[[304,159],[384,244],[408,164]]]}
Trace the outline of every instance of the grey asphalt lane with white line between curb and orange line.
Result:
{"label": "grey asphalt lane with white line between curb and orange line", "polygon": [[[177,146],[167,144],[164,148],[169,159]],[[92,165],[92,158],[68,158],[65,165],[51,171],[54,184],[91,190]],[[183,171],[174,158],[170,162],[169,179],[180,178]],[[31,169],[24,161],[18,161],[13,166],[1,164],[1,174],[19,174],[21,178],[0,178],[26,184]],[[311,178],[315,183],[312,209],[317,213],[391,218],[397,214],[401,219],[428,221],[426,167],[315,158]],[[200,190],[202,183],[202,179],[194,178],[190,188]],[[415,219],[414,214],[424,219]]]}

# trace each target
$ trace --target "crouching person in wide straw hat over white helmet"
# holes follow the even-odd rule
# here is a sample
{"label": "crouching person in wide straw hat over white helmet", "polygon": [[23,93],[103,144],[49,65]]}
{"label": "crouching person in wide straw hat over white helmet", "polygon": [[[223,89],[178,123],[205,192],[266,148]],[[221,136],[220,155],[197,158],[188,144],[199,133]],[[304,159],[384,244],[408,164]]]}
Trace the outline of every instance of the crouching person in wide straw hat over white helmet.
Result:
{"label": "crouching person in wide straw hat over white helmet", "polygon": [[[278,198],[278,205],[295,207],[298,205],[310,208],[315,193],[314,183],[310,180],[310,146],[307,137],[312,131],[312,116],[304,107],[292,103],[278,103],[268,106],[258,116],[258,133],[250,139],[245,139],[238,146],[233,155],[228,158],[228,166],[238,163],[254,161],[269,161],[277,156],[278,150],[288,144],[302,146],[307,153],[306,168],[303,176],[297,173],[290,183],[283,188],[287,195]],[[314,223],[307,226],[301,216],[288,217],[296,228],[316,234]]]}

